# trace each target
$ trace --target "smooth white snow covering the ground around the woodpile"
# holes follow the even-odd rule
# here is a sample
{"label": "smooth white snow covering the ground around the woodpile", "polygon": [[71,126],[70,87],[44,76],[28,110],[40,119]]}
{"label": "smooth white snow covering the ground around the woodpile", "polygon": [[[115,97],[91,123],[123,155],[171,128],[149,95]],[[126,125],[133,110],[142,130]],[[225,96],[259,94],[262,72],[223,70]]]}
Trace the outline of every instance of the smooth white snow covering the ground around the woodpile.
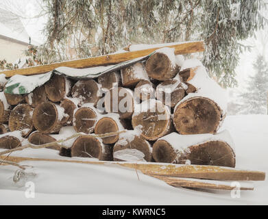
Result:
{"label": "smooth white snow covering the ground around the woodpile", "polygon": [[[268,172],[268,116],[228,116],[223,123],[236,146],[236,168]],[[38,151],[38,153],[37,153]],[[27,149],[17,156],[58,158],[51,149]],[[62,158],[62,157],[61,157]],[[27,179],[14,183],[14,166],[0,166],[1,205],[268,205],[268,181],[232,198],[226,191],[194,191],[117,166],[23,162],[33,166]],[[34,182],[35,197],[25,197],[25,182]]]}

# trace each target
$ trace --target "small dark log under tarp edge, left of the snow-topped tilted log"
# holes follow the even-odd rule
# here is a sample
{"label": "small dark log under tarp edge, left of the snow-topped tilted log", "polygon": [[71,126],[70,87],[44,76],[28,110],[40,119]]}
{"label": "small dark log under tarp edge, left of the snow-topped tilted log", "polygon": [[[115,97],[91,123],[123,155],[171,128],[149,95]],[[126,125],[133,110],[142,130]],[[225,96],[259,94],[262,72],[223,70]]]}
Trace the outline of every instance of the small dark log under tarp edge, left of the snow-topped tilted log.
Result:
{"label": "small dark log under tarp edge, left of the snow-topped tilted log", "polygon": [[120,87],[122,85],[121,75],[119,71],[106,73],[98,77],[98,83],[102,89],[110,90],[113,87]]}

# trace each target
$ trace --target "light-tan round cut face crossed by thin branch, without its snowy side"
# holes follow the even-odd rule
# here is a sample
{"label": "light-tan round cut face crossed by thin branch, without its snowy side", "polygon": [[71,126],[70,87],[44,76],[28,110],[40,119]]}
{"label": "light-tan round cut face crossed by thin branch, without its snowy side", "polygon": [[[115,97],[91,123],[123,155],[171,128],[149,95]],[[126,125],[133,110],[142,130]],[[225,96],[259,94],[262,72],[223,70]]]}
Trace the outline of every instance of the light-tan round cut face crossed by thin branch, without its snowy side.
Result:
{"label": "light-tan round cut face crossed by thin branch, without its snowy side", "polygon": [[[119,131],[117,122],[110,117],[101,118],[95,126],[95,134],[105,134]],[[119,139],[119,135],[101,138],[104,144],[113,144]]]}

